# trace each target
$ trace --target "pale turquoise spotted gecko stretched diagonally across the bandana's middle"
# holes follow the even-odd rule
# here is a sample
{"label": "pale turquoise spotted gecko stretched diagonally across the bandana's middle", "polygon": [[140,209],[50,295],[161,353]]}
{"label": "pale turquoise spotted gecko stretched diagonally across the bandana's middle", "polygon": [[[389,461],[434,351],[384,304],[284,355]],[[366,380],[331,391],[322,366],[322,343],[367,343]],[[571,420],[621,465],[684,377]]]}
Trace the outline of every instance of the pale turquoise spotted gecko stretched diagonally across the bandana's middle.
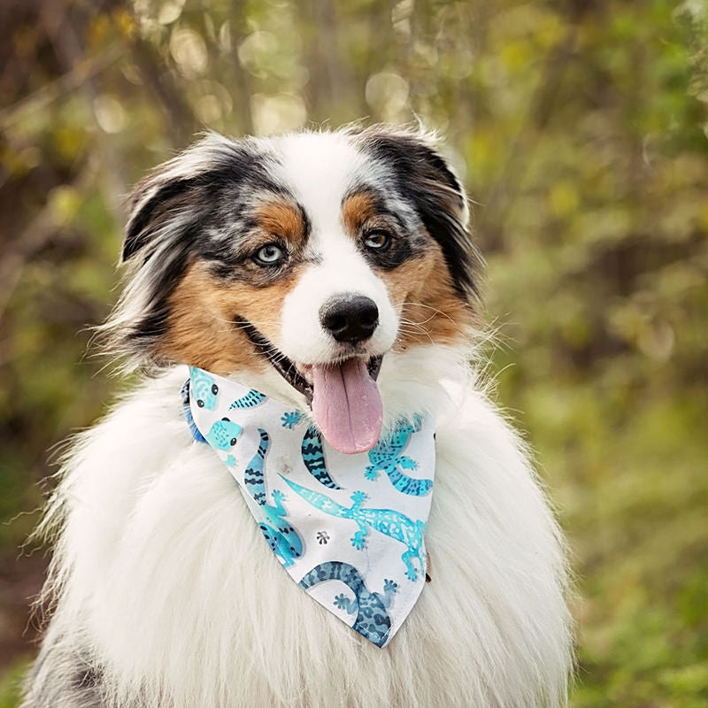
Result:
{"label": "pale turquoise spotted gecko stretched diagonally across the bandana's middle", "polygon": [[352,519],[359,527],[359,530],[351,539],[351,545],[357,550],[363,550],[366,546],[366,535],[368,535],[369,527],[376,531],[385,534],[390,538],[404,543],[406,550],[401,556],[401,560],[405,566],[405,576],[410,581],[415,581],[418,578],[418,568],[413,566],[412,560],[416,558],[420,567],[421,573],[425,573],[425,553],[423,551],[423,534],[426,530],[424,521],[413,521],[400,512],[394,512],[392,509],[362,509],[361,505],[366,501],[364,492],[354,492],[351,495],[351,501],[354,503],[348,509],[342,504],[337,504],[324,494],[307,489],[294,481],[285,479],[283,481],[290,489],[296,491],[302,496],[306,502],[312,504],[316,509],[325,512],[330,516],[339,517],[340,519]]}

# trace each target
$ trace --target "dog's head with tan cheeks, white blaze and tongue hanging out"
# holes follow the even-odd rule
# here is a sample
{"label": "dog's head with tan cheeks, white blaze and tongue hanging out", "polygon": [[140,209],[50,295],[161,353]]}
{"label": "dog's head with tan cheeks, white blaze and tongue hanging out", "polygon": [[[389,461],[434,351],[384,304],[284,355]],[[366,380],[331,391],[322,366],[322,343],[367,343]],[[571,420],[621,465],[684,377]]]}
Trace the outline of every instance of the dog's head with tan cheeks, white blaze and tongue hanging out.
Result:
{"label": "dog's head with tan cheeks, white blaze and tongue hanging out", "polygon": [[131,196],[131,275],[107,329],[136,364],[246,377],[311,405],[337,449],[368,450],[381,362],[468,335],[478,257],[466,221],[425,135],[209,135]]}

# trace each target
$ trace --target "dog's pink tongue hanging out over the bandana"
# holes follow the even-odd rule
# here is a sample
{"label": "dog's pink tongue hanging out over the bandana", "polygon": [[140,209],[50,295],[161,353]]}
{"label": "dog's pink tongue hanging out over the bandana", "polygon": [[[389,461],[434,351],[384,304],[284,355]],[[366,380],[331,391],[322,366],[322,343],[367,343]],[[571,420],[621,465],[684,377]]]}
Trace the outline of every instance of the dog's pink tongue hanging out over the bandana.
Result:
{"label": "dog's pink tongue hanging out over the bandana", "polygon": [[366,362],[313,366],[312,384],[312,412],[327,443],[347,455],[371,450],[381,435],[383,405]]}

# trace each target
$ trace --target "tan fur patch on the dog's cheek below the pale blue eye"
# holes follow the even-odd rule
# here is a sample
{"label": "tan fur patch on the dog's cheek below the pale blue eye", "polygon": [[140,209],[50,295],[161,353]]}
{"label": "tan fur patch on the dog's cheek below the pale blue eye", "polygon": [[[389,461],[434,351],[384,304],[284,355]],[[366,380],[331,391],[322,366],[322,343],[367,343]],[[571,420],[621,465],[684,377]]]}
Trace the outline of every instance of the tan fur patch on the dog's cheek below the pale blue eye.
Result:
{"label": "tan fur patch on the dog's cheek below the pale blue eye", "polygon": [[297,268],[273,285],[220,281],[204,261],[189,266],[169,299],[168,330],[158,355],[225,376],[264,372],[266,359],[235,324],[247,319],[270,340],[280,333],[282,301],[297,281]]}

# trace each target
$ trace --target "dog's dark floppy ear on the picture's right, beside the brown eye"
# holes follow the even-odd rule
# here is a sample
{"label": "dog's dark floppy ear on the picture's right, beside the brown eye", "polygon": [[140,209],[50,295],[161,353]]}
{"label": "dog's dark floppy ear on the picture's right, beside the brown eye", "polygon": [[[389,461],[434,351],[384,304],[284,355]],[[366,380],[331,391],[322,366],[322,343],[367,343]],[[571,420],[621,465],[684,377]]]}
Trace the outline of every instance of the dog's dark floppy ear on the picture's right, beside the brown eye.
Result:
{"label": "dog's dark floppy ear on the picture's right, beside the brown eye", "polygon": [[482,259],[467,227],[465,189],[435,138],[420,130],[383,125],[352,133],[366,152],[394,174],[399,193],[411,198],[428,233],[443,250],[458,295],[476,300]]}

